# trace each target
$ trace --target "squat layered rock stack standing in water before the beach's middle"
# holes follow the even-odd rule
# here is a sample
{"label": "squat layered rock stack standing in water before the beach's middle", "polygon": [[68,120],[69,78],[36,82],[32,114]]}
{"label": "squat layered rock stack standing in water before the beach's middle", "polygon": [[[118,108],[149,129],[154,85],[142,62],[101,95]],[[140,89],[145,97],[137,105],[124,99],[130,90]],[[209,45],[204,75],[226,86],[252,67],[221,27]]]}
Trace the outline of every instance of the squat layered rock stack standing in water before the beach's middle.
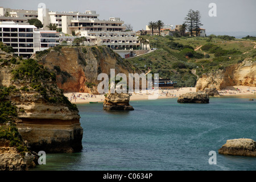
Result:
{"label": "squat layered rock stack standing in water before the beach's middle", "polygon": [[104,110],[134,110],[129,104],[130,95],[128,93],[108,93],[105,96]]}

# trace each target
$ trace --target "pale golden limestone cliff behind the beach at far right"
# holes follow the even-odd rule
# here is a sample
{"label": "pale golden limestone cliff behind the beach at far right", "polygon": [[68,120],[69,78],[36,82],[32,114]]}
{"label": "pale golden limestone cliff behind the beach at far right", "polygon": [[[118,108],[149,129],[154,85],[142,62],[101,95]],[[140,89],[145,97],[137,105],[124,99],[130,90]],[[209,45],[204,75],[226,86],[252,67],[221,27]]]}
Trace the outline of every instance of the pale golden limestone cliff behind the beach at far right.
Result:
{"label": "pale golden limestone cliff behind the beach at far right", "polygon": [[256,86],[256,61],[245,59],[242,63],[231,65],[223,70],[204,74],[196,83],[196,90],[226,86]]}

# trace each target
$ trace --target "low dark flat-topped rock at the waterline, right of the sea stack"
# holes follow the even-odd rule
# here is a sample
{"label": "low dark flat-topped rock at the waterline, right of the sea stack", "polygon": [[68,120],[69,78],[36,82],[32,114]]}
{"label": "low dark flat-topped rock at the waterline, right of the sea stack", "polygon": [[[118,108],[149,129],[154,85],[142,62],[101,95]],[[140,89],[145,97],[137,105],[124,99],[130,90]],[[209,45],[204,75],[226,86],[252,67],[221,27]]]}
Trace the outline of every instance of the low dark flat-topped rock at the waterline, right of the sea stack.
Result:
{"label": "low dark flat-topped rock at the waterline, right of the sea stack", "polygon": [[185,93],[179,96],[177,102],[206,104],[206,103],[209,103],[209,96],[207,93],[197,93],[197,92]]}

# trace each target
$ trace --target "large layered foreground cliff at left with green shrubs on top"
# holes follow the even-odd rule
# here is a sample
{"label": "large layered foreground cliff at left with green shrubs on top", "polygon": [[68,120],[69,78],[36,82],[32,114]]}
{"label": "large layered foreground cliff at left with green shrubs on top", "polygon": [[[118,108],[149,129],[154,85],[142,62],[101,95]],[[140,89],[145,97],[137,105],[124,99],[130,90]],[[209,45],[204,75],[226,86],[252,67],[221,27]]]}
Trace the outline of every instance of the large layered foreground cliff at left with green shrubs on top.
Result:
{"label": "large layered foreground cliff at left with green shrubs on top", "polygon": [[35,152],[80,151],[79,111],[57,87],[55,74],[32,59],[13,57],[0,64],[1,102],[10,101],[16,107],[16,127],[28,148]]}

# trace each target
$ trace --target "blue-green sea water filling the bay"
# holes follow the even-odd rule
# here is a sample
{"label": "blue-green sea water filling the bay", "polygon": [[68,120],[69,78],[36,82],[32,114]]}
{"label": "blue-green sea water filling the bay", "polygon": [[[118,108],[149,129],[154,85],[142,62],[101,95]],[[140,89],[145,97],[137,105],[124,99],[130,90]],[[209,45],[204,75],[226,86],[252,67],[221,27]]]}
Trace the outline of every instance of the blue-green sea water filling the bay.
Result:
{"label": "blue-green sea water filling the bay", "polygon": [[[82,152],[47,154],[35,170],[256,170],[256,158],[218,154],[227,139],[256,140],[256,101],[210,98],[179,104],[176,98],[130,101],[134,111],[77,105],[84,129]],[[217,164],[210,165],[210,151]]]}

